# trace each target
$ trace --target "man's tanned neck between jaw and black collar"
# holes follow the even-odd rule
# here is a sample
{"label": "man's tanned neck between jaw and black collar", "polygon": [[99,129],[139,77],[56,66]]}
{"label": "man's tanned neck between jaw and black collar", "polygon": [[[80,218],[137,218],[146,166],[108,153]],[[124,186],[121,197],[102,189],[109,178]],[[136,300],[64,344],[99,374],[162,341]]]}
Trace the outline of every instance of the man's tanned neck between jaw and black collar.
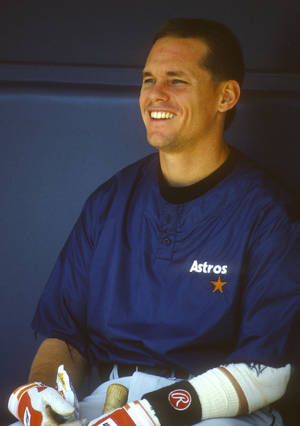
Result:
{"label": "man's tanned neck between jaw and black collar", "polygon": [[161,170],[171,186],[192,185],[219,168],[227,159],[229,151],[224,140],[216,145],[197,146],[189,152],[160,151]]}

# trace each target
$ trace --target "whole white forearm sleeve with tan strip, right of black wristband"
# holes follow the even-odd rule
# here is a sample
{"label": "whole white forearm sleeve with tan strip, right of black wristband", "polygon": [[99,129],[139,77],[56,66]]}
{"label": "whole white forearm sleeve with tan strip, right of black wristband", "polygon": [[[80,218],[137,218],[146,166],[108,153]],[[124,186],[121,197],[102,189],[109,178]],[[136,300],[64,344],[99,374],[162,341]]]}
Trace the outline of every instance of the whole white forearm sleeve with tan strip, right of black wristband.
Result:
{"label": "whole white forearm sleeve with tan strip, right of black wristband", "polygon": [[272,368],[240,363],[213,368],[190,383],[199,396],[204,420],[241,414],[243,398],[249,413],[275,402],[284,395],[290,376],[290,364]]}

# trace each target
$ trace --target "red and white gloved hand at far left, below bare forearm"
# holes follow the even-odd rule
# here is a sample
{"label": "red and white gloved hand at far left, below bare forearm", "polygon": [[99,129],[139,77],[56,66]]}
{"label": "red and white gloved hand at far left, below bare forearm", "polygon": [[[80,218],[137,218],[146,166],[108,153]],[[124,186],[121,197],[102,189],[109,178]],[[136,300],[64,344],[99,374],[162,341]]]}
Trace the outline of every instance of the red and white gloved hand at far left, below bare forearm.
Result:
{"label": "red and white gloved hand at far left, below bare forearm", "polygon": [[74,419],[73,405],[55,389],[38,382],[17,388],[9,398],[8,409],[25,426],[82,424]]}

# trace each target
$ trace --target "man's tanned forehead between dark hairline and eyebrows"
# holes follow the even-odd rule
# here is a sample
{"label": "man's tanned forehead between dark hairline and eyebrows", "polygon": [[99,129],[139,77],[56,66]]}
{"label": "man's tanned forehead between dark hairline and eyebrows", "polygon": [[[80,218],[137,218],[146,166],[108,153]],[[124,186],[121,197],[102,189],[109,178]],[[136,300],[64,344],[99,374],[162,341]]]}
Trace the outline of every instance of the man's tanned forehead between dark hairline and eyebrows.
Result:
{"label": "man's tanned forehead between dark hairline and eyebrows", "polygon": [[145,70],[155,67],[197,67],[208,51],[206,43],[196,38],[163,37],[157,40],[149,52]]}

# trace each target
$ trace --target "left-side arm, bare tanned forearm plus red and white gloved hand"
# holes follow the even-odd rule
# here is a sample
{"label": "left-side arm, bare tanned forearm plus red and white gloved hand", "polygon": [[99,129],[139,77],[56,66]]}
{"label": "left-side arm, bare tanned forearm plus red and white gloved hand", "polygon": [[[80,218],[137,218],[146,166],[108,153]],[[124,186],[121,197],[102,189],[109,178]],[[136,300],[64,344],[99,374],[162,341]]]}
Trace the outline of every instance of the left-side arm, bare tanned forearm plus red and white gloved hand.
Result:
{"label": "left-side arm, bare tanned forearm plus red and white gloved hand", "polygon": [[[48,338],[40,346],[31,366],[28,383],[19,386],[8,401],[9,411],[23,424],[81,425],[78,402],[69,387],[68,377],[60,379],[62,388],[55,389],[58,367],[63,364],[67,376],[78,388],[88,371],[87,360],[63,340]],[[62,367],[61,367],[62,368]]]}

